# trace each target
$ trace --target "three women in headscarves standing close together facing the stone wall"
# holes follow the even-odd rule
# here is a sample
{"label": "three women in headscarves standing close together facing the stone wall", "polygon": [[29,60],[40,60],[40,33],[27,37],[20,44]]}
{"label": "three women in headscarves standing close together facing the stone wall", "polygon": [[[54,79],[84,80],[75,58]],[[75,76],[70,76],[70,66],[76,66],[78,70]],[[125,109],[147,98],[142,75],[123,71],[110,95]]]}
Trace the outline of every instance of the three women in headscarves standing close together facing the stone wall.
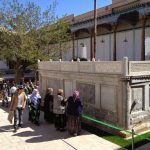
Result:
{"label": "three women in headscarves standing close together facing the stone wall", "polygon": [[58,89],[53,96],[53,89],[48,88],[44,99],[44,118],[53,122],[56,130],[68,130],[70,135],[78,135],[81,132],[82,101],[79,91],[65,98],[63,89]]}

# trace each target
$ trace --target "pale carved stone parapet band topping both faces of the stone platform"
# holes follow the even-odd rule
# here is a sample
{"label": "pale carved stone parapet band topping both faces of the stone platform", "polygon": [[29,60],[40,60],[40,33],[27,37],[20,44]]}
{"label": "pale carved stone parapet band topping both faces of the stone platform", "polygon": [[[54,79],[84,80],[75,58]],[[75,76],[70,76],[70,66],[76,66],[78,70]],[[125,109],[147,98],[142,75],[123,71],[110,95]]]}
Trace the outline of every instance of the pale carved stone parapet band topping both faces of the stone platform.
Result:
{"label": "pale carved stone parapet band topping both faces of the stone platform", "polygon": [[[129,68],[128,68],[129,64]],[[95,62],[50,62],[38,63],[39,70],[69,71],[69,72],[89,72],[89,73],[108,73],[124,74],[125,76],[150,75],[150,61],[95,61]],[[125,68],[129,69],[124,73]]]}

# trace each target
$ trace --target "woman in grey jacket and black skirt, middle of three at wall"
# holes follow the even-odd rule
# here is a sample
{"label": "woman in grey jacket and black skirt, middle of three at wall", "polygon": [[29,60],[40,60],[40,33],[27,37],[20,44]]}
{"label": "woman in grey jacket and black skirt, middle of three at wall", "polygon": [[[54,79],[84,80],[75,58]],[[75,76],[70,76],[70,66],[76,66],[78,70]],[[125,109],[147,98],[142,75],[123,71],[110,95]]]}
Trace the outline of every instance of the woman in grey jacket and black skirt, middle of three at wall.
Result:
{"label": "woman in grey jacket and black skirt, middle of three at wall", "polygon": [[63,89],[59,89],[56,98],[54,99],[53,112],[55,114],[56,130],[65,131],[66,127],[66,100],[64,98]]}

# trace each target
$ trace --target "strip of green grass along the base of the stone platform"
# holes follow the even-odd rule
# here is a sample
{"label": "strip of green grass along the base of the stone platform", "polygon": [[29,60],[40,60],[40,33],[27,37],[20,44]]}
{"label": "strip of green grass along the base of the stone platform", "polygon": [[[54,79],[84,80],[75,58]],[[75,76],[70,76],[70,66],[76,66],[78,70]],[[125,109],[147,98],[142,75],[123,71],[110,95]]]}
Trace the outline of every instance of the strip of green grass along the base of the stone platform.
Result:
{"label": "strip of green grass along the base of the stone platform", "polygon": [[[104,138],[104,139],[106,139],[112,143],[120,145],[121,147],[124,147],[128,150],[132,149],[132,139],[127,140],[127,139],[121,138],[119,136],[112,135],[110,133],[101,131],[100,129],[97,129],[95,127],[88,126],[87,124],[82,124],[82,127],[83,127],[83,129],[85,129],[91,133],[94,133],[94,134],[96,134],[96,135],[98,135],[98,136],[100,136],[100,137],[102,137],[102,138]],[[150,142],[150,141],[143,138],[143,137],[145,137],[145,138],[150,139],[150,133],[145,133],[145,134],[142,134],[141,136],[136,136],[134,138],[134,147],[135,148]]]}

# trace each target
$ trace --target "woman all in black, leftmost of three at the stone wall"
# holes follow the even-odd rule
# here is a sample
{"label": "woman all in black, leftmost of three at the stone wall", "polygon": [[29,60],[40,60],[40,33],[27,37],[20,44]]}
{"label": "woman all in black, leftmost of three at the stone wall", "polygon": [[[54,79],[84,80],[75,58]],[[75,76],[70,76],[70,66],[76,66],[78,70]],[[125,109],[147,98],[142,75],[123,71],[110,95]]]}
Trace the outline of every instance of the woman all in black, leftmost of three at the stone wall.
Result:
{"label": "woman all in black, leftmost of three at the stone wall", "polygon": [[44,98],[44,119],[53,122],[53,89],[48,88]]}

